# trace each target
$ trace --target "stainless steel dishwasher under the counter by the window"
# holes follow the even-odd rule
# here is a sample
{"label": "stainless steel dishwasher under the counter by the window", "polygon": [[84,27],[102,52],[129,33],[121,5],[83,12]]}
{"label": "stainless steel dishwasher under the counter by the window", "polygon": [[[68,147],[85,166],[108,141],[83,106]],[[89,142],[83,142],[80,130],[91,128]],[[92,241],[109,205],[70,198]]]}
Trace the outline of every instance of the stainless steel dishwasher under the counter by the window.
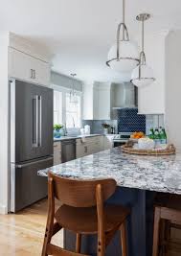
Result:
{"label": "stainless steel dishwasher under the counter by the window", "polygon": [[76,139],[61,141],[61,162],[65,163],[76,159]]}

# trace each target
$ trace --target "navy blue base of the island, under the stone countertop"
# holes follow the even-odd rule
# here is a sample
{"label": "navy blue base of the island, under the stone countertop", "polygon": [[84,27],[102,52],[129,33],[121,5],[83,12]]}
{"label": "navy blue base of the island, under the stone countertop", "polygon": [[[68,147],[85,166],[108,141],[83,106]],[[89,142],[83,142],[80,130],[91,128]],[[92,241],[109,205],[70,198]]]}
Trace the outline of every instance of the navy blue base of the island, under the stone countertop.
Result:
{"label": "navy blue base of the island, under the stone countertop", "polygon": [[[127,219],[127,249],[128,256],[151,256],[153,227],[154,192],[117,187],[116,193],[107,203],[122,204],[131,209]],[[75,250],[76,235],[64,230],[64,246]],[[82,236],[81,253],[97,255],[97,236]],[[106,256],[121,256],[120,232],[107,246]]]}

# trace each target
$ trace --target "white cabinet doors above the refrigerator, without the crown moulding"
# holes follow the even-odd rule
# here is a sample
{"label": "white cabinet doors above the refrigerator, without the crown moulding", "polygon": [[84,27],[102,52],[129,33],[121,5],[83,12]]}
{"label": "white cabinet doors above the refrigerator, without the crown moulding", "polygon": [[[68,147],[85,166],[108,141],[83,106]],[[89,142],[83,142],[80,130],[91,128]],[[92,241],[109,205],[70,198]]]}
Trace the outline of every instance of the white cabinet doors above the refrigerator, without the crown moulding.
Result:
{"label": "white cabinet doors above the refrigerator, without the crown moulding", "polygon": [[9,77],[50,85],[50,64],[9,47]]}

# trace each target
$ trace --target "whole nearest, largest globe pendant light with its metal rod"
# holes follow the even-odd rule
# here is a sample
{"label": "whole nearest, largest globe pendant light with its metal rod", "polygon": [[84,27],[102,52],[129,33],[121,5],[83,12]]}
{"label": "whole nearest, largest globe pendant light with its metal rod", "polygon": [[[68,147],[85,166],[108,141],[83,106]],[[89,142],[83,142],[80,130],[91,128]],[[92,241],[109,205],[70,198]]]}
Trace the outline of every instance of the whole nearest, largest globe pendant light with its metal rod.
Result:
{"label": "whole nearest, largest globe pendant light with its metal rod", "polygon": [[[107,66],[119,72],[131,72],[139,63],[139,52],[137,45],[129,40],[127,28],[124,23],[124,0],[123,0],[123,22],[118,25],[117,41],[108,52]],[[123,34],[121,36],[121,29]]]}

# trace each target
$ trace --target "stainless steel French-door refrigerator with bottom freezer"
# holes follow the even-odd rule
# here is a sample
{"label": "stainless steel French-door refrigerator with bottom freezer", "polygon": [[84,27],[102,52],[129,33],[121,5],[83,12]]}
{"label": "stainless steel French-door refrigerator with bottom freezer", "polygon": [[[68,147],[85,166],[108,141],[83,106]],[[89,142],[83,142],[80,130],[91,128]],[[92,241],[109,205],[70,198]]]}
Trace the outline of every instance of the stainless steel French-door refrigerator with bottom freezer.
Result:
{"label": "stainless steel French-door refrigerator with bottom freezer", "polygon": [[53,90],[11,81],[10,211],[47,196],[47,178],[37,171],[53,165]]}

